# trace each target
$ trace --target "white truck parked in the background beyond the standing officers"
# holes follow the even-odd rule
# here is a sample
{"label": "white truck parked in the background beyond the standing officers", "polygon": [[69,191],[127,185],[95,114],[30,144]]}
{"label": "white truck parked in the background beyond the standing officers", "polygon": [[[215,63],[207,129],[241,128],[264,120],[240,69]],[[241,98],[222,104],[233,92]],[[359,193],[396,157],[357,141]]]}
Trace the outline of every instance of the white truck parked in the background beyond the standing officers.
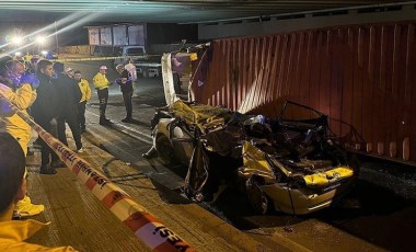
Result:
{"label": "white truck parked in the background beyond the standing officers", "polygon": [[114,60],[114,69],[118,64],[126,65],[131,59],[137,73],[143,78],[159,77],[162,73],[161,56],[146,54],[145,46],[122,47],[120,58]]}

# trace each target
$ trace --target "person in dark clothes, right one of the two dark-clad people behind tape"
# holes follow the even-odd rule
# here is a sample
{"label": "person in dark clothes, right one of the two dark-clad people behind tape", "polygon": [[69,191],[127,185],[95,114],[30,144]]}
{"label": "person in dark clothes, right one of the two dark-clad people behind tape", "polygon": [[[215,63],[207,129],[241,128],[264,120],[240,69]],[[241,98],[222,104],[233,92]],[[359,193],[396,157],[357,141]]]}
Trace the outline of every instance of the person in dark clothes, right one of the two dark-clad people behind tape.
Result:
{"label": "person in dark clothes, right one of the two dark-clad people behind tape", "polygon": [[59,140],[68,146],[67,135],[65,133],[66,123],[72,131],[73,140],[77,145],[77,152],[83,152],[83,147],[81,142],[81,129],[78,123],[78,103],[81,101],[81,90],[78,87],[78,81],[70,78],[63,72],[63,64],[56,62],[54,65],[55,72],[57,73],[57,79],[55,83],[58,89],[59,96],[59,115],[58,115],[58,138]]}

